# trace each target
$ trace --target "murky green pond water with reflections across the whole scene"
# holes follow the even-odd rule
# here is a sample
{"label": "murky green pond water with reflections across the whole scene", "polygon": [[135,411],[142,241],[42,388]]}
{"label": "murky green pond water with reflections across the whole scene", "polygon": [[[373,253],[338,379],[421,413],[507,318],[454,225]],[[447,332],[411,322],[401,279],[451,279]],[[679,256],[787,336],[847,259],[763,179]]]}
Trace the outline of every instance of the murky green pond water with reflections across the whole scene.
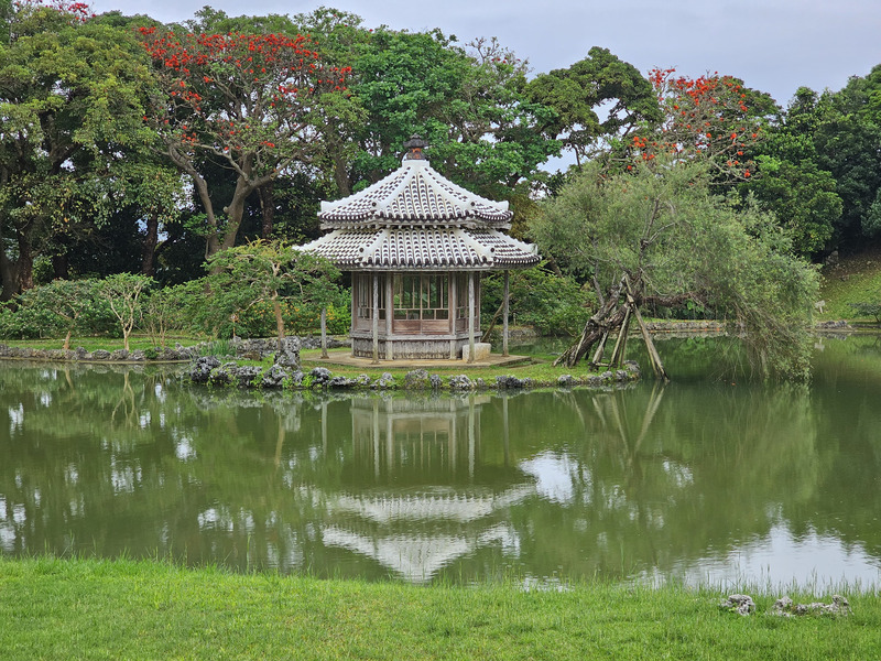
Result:
{"label": "murky green pond water with reflections across the whole scene", "polygon": [[0,552],[316,576],[881,585],[881,338],[809,386],[320,397],[0,364]]}

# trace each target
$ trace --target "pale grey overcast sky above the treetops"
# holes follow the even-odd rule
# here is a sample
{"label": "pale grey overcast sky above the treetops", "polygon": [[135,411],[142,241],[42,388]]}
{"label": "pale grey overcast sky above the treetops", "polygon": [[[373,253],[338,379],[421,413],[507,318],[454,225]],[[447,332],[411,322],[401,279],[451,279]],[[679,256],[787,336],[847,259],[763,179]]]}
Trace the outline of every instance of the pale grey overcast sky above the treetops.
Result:
{"label": "pale grey overcast sky above the treetops", "polygon": [[[184,21],[205,0],[93,0],[93,11]],[[460,42],[498,36],[533,74],[567,67],[591,46],[645,74],[675,67],[719,72],[785,106],[800,86],[840,89],[881,64],[881,0],[214,0],[235,17],[311,12],[322,3],[354,12],[367,28],[439,28]]]}

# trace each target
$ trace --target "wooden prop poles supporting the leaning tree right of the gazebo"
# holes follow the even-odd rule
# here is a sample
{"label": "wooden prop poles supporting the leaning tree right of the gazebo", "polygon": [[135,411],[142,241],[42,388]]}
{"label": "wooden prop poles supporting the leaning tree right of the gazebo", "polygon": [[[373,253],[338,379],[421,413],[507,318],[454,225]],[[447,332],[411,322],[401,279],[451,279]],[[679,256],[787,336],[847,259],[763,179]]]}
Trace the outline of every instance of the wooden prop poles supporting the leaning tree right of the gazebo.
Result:
{"label": "wooden prop poles supporting the leaning tree right of the gazebo", "polygon": [[[621,301],[623,299],[623,302]],[[624,351],[627,349],[627,337],[630,332],[630,323],[635,318],[642,334],[642,339],[645,342],[645,348],[649,353],[649,360],[652,364],[652,371],[656,378],[663,381],[670,381],[670,377],[664,370],[661,362],[661,356],[652,342],[652,336],[642,315],[639,311],[637,300],[633,297],[633,291],[630,286],[630,279],[624,273],[616,285],[611,288],[609,296],[606,302],[600,306],[597,313],[591,316],[585,324],[585,329],[578,342],[566,349],[559,358],[554,360],[554,366],[565,365],[567,367],[575,367],[581,357],[587,354],[594,345],[597,346],[594,353],[594,358],[590,361],[591,368],[610,367],[619,368],[624,360]],[[606,351],[606,344],[609,340],[609,335],[618,332],[618,339],[612,348],[612,355],[609,362],[601,362],[602,356]]]}

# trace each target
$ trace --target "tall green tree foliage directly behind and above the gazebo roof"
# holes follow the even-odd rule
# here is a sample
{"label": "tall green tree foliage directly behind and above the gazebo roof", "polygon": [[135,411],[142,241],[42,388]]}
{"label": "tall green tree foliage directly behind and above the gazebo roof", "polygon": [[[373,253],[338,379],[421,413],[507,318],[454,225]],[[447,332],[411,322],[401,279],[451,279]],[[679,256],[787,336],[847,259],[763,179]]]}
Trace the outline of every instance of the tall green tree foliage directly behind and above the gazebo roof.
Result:
{"label": "tall green tree foliage directly behind and above the gazebo roof", "polygon": [[396,169],[414,133],[431,144],[436,170],[489,196],[510,194],[558,153],[559,144],[542,130],[552,111],[525,95],[526,63],[498,41],[463,47],[438,30],[355,31],[328,25],[323,14],[312,20],[330,30],[325,44],[352,54],[351,93],[361,116],[338,127],[357,145],[354,153],[336,150],[333,159],[340,194]]}

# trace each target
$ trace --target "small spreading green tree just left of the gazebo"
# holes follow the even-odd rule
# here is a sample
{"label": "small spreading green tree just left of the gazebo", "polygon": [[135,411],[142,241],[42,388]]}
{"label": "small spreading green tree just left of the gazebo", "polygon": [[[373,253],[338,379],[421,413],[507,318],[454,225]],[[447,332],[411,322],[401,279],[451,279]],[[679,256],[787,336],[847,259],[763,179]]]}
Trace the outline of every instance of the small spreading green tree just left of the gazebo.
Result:
{"label": "small spreading green tree just left of the gazebo", "polygon": [[300,252],[278,241],[254,241],[214,254],[207,263],[213,275],[210,305],[221,316],[239,315],[269,303],[275,318],[279,350],[284,340],[282,303],[318,313],[336,299],[334,280],[339,271],[329,261]]}

